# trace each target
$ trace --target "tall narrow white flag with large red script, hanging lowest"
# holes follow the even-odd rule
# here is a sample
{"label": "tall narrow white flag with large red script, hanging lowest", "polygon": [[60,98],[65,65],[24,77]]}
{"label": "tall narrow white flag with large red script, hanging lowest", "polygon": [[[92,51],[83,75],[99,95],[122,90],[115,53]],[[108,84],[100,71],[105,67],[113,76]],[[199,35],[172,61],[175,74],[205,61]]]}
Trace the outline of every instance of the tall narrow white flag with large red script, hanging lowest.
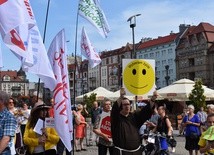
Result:
{"label": "tall narrow white flag with large red script, hanging lowest", "polygon": [[57,81],[57,85],[53,92],[55,100],[55,128],[67,150],[71,151],[71,140],[73,139],[73,116],[71,112],[67,49],[64,29],[53,39],[48,50],[48,57]]}

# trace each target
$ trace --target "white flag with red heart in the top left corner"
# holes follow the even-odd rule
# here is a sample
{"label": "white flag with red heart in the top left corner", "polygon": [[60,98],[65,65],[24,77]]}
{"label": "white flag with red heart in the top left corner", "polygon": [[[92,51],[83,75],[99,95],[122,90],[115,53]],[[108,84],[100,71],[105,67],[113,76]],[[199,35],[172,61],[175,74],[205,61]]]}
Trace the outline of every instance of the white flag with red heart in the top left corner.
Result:
{"label": "white flag with red heart in the top left corner", "polygon": [[8,48],[17,55],[26,58],[28,53],[23,38],[19,35],[19,26],[26,31],[35,25],[35,18],[29,0],[0,1],[0,33]]}

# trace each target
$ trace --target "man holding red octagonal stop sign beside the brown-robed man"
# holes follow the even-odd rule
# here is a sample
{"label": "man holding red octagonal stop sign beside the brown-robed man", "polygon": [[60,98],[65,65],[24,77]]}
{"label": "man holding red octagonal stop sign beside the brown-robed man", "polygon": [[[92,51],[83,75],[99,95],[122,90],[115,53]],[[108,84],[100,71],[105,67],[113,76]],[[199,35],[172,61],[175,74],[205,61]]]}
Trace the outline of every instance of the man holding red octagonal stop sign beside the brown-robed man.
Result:
{"label": "man holding red octagonal stop sign beside the brown-robed man", "polygon": [[107,150],[110,155],[113,155],[110,122],[111,101],[106,99],[102,107],[102,113],[97,116],[93,129],[94,133],[99,136],[98,155],[107,155]]}

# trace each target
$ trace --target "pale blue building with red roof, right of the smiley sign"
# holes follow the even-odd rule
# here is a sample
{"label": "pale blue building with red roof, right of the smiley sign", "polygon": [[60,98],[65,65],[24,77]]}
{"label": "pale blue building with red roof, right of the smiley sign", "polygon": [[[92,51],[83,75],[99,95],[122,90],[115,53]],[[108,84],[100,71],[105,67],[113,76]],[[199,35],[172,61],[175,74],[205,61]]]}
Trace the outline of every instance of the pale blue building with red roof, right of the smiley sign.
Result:
{"label": "pale blue building with red roof, right of the smiley sign", "polygon": [[156,87],[165,87],[176,80],[175,48],[178,33],[143,40],[136,50],[138,59],[154,59]]}

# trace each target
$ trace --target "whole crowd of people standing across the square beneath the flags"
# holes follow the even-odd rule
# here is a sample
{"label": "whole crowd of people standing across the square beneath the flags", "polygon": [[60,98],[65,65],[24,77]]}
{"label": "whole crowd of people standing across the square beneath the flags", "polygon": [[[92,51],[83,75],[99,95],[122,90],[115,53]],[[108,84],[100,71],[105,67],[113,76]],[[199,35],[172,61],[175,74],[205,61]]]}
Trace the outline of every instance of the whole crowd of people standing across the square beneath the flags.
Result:
{"label": "whole crowd of people standing across the square beneath the flags", "polygon": [[[71,110],[74,116],[75,151],[87,151],[83,144],[87,128],[90,128],[88,145],[97,145],[98,155],[142,155],[142,135],[145,131],[166,135],[160,139],[161,147],[175,152],[172,123],[167,115],[165,103],[155,101],[155,92],[150,100],[138,104],[138,109],[132,110],[131,101],[121,96],[112,103],[105,99],[101,105],[93,102],[88,112],[84,104],[78,104]],[[30,109],[26,102],[16,107],[15,100],[0,92],[0,154],[15,155],[17,150],[27,146],[30,155],[63,155],[64,145],[56,130],[51,127],[35,130],[39,121],[44,122],[47,117],[54,117],[54,100],[47,106],[38,96]],[[206,109],[206,111],[204,110]],[[85,114],[90,114],[91,122],[87,122]],[[214,105],[206,107],[195,113],[195,107],[188,105],[182,114],[180,133],[185,136],[185,149],[189,155],[214,153]],[[130,134],[131,133],[131,134]],[[72,154],[66,151],[66,155]]]}

